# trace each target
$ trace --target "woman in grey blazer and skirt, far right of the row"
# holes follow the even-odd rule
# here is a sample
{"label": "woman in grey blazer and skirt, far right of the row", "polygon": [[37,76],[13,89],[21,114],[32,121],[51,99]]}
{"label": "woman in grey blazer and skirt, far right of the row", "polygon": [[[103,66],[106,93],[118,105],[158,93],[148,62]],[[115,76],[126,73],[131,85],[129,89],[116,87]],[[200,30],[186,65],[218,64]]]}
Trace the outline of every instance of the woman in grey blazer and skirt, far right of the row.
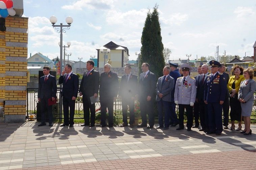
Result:
{"label": "woman in grey blazer and skirt, far right of the row", "polygon": [[245,129],[241,133],[244,135],[251,135],[251,114],[254,102],[254,92],[256,89],[256,83],[253,80],[253,69],[247,68],[244,70],[245,80],[241,82],[238,91],[238,100],[241,103],[241,115],[244,116]]}

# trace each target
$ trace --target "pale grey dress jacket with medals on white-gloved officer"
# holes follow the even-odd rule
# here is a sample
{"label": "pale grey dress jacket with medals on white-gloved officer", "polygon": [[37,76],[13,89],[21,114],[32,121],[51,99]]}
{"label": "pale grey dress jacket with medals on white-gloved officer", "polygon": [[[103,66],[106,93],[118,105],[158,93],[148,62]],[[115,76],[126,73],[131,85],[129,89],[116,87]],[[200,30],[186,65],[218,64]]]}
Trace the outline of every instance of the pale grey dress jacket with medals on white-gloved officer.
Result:
{"label": "pale grey dress jacket with medals on white-gloved officer", "polygon": [[188,77],[183,84],[183,78],[177,79],[175,85],[174,101],[178,101],[178,104],[190,105],[190,102],[195,103],[197,86],[196,79]]}

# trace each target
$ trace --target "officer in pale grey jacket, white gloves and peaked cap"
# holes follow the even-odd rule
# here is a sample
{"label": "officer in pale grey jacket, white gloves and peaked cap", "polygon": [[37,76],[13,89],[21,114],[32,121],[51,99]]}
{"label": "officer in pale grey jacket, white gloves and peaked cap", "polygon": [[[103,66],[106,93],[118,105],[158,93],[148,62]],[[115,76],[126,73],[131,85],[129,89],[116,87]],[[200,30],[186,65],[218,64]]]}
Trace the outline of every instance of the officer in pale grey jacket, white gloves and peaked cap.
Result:
{"label": "officer in pale grey jacket, white gloves and peaked cap", "polygon": [[187,113],[187,131],[191,131],[193,125],[193,106],[196,101],[196,79],[189,77],[190,65],[181,64],[183,77],[177,79],[175,85],[174,102],[179,106],[179,128],[184,129],[184,109]]}

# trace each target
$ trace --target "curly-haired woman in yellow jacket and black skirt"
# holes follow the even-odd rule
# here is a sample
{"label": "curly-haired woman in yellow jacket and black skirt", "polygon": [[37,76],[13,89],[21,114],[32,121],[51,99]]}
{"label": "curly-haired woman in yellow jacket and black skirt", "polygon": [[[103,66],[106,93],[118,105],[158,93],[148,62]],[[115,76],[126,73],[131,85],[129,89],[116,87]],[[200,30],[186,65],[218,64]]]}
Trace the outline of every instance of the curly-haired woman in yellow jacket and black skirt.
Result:
{"label": "curly-haired woman in yellow jacket and black skirt", "polygon": [[240,83],[245,80],[243,76],[244,68],[239,65],[235,65],[232,68],[232,72],[235,76],[231,76],[228,81],[228,90],[230,93],[229,103],[230,103],[230,119],[231,128],[229,130],[235,129],[235,120],[239,121],[237,131],[242,129],[242,117],[241,117],[241,105],[238,100],[238,90],[240,88]]}

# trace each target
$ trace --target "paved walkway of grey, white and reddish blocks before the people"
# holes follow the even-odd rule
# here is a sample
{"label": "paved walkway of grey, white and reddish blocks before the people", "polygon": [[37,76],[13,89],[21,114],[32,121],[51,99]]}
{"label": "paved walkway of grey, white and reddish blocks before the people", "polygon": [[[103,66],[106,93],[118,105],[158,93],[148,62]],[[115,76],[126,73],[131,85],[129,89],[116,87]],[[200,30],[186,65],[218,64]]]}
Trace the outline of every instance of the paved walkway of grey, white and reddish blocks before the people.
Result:
{"label": "paved walkway of grey, white and reddish blocks before the people", "polygon": [[[0,170],[5,169],[255,169],[253,134],[198,129],[38,127],[0,122]],[[237,125],[236,125],[237,126]]]}

